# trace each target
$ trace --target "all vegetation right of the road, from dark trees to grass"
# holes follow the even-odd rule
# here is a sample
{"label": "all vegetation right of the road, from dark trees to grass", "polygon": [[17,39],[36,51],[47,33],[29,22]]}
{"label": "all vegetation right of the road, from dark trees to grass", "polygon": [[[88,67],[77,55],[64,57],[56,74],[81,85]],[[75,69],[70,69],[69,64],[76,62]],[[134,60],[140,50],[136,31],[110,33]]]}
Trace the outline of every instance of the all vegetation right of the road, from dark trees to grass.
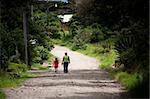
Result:
{"label": "all vegetation right of the road, from dark trees to grass", "polygon": [[62,45],[98,57],[134,97],[148,97],[148,0],[76,0],[75,5]]}

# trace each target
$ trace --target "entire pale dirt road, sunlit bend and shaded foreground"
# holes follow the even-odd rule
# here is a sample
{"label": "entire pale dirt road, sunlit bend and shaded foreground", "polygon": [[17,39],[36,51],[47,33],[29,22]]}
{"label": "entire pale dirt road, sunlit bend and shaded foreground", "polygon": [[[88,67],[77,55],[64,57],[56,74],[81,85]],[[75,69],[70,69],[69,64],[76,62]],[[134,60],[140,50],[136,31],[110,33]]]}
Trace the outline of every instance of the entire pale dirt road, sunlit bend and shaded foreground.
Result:
{"label": "entire pale dirt road, sunlit bend and shaded foreground", "polygon": [[38,76],[19,88],[6,89],[8,99],[127,99],[124,88],[98,69],[96,59],[60,46],[51,51],[60,61],[65,52],[71,59],[69,73],[64,74],[61,65],[58,73],[30,71]]}

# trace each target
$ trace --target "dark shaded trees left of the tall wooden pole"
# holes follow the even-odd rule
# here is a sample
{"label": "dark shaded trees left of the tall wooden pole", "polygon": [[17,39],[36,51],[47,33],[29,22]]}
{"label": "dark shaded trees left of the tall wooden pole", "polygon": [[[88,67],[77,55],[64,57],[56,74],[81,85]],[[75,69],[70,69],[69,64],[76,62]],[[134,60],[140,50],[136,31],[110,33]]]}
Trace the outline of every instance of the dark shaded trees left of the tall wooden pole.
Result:
{"label": "dark shaded trees left of the tall wooden pole", "polygon": [[[20,53],[20,59],[24,58],[22,12],[27,1],[1,1],[1,68],[7,68],[7,61],[13,55]],[[18,56],[16,56],[18,57]]]}

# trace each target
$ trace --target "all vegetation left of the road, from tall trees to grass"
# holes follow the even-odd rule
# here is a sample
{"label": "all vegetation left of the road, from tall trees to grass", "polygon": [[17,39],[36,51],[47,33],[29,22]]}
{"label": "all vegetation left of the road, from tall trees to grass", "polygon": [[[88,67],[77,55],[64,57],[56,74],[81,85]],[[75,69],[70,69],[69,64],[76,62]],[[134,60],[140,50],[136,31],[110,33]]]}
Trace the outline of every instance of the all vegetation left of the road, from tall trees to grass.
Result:
{"label": "all vegetation left of the road, from tall trees to grass", "polygon": [[[34,13],[31,13],[31,4]],[[45,12],[42,4],[29,0],[0,1],[0,88],[15,87],[33,77],[26,73],[28,69],[48,69],[41,64],[51,62],[51,39],[59,38],[61,27],[56,14]],[[0,92],[2,97],[5,95]]]}

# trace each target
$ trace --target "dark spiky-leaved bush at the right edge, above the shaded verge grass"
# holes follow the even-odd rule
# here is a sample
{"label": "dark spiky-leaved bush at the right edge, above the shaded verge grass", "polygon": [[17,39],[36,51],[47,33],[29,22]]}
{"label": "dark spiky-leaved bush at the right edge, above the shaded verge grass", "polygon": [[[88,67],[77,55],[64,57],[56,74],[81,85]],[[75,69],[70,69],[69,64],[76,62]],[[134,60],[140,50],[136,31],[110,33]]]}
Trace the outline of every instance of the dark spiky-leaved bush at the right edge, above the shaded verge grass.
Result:
{"label": "dark spiky-leaved bush at the right edge, above the shaded verge grass", "polygon": [[[131,22],[131,24],[133,23]],[[134,69],[139,65],[141,67],[148,66],[147,33],[147,29],[144,29],[144,26],[138,22],[129,28],[121,29],[115,49],[120,54],[120,61],[125,64],[127,69]],[[147,66],[143,68],[147,70]]]}

